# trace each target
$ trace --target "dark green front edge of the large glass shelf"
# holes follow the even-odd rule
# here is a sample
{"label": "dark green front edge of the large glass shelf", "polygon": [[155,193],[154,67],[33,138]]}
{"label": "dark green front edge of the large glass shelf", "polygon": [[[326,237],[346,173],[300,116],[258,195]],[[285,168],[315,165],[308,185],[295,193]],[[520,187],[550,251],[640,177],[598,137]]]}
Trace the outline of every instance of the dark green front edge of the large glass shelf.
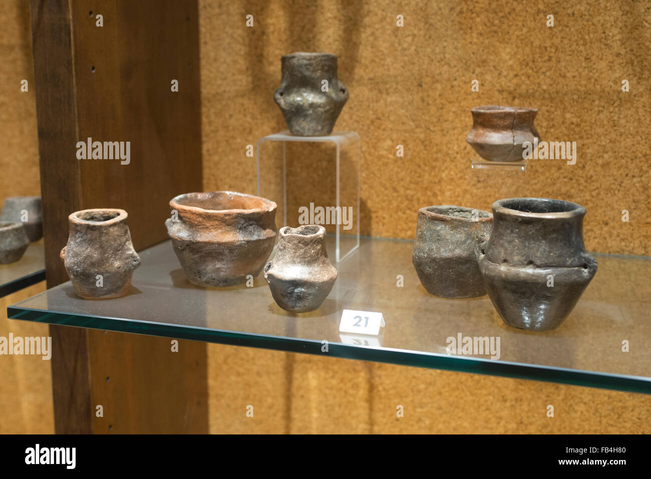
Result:
{"label": "dark green front edge of the large glass shelf", "polygon": [[[484,374],[486,376],[511,377],[530,381],[562,383],[574,386],[596,387],[600,389],[620,390],[651,394],[651,378],[643,376],[623,376],[611,373],[553,368],[540,364],[512,363],[493,361],[491,359],[441,355],[437,353],[415,352],[406,349],[373,348],[353,346],[337,342],[328,343],[328,353],[321,351],[320,340],[287,338],[256,333],[241,333],[221,329],[201,328],[195,326],[171,326],[165,323],[143,322],[138,320],[120,320],[105,316],[84,316],[72,313],[55,313],[31,308],[20,308],[20,303],[7,307],[7,317],[12,320],[24,320],[56,325],[85,327],[120,333],[132,333],[148,336],[160,336],[173,339],[194,340],[230,346],[274,349],[277,351],[305,353],[320,356],[332,356],[342,359],[355,359],[375,363],[397,364],[428,369]],[[55,320],[55,318],[58,318]],[[68,318],[74,318],[68,322]],[[98,327],[97,322],[102,322]],[[140,331],[137,325],[146,325],[147,332]],[[111,327],[106,327],[106,326]]]}

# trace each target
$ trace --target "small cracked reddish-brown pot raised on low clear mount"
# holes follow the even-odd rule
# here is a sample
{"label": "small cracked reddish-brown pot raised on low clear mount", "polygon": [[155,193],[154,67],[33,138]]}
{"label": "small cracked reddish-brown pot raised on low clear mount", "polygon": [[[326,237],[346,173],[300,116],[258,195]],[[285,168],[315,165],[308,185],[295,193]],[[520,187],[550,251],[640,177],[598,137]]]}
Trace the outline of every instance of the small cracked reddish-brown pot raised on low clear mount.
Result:
{"label": "small cracked reddish-brown pot raised on low clear mount", "polygon": [[538,109],[487,105],[474,107],[473,129],[465,137],[487,161],[522,161],[522,144],[540,136],[533,124]]}

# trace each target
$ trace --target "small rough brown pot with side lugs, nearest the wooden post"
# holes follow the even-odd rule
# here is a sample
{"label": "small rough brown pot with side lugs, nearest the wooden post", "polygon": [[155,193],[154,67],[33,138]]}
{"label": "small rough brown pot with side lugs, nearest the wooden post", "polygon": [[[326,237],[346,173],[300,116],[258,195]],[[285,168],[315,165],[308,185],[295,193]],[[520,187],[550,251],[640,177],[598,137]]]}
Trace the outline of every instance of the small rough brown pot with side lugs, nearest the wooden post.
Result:
{"label": "small rough brown pot with side lugs, nearest the wooden post", "polygon": [[107,299],[129,292],[140,258],[133,249],[126,219],[126,211],[112,208],[81,210],[68,216],[70,234],[61,259],[77,295]]}

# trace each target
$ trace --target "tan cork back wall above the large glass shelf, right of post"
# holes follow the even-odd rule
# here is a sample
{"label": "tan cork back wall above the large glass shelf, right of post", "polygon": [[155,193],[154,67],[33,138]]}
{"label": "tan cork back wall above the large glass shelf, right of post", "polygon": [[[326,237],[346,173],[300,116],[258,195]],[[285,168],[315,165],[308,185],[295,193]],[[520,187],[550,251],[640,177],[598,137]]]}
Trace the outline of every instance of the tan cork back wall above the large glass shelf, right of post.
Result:
{"label": "tan cork back wall above the large glass shelf, right of post", "polygon": [[[589,251],[650,254],[647,1],[200,5],[206,190],[255,193],[255,158],[245,156],[246,145],[286,130],[273,102],[281,56],[334,53],[350,92],[335,130],[357,131],[362,141],[362,234],[413,238],[423,206],[490,210],[494,200],[525,195],[585,206]],[[249,14],[253,27],[245,24]],[[399,14],[403,27],[396,26]],[[542,139],[575,141],[576,164],[532,160],[526,177],[472,171],[478,156],[465,143],[470,110],[492,104],[538,108]],[[396,157],[398,144],[404,157]],[[297,173],[307,185],[323,180],[312,174],[315,164]]]}

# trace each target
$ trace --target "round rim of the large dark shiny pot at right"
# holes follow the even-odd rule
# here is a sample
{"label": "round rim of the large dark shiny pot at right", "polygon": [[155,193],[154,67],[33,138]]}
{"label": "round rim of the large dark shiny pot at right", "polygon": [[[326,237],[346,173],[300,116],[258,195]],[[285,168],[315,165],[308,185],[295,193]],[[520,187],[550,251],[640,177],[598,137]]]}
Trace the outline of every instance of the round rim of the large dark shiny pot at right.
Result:
{"label": "round rim of the large dark shiny pot at right", "polygon": [[[538,208],[538,206],[544,208]],[[546,208],[545,208],[546,207]],[[493,203],[493,213],[537,219],[570,219],[582,217],[587,210],[580,204],[553,198],[504,198]],[[531,211],[534,209],[545,211]]]}

